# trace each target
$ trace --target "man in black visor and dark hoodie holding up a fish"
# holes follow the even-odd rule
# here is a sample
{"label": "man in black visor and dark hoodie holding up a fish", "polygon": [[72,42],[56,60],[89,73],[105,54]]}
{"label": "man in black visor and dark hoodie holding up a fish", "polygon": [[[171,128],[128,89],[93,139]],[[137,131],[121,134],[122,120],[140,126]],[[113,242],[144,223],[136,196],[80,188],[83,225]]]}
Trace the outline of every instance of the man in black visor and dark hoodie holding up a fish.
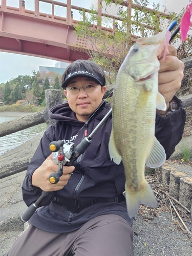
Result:
{"label": "man in black visor and dark hoodie holding up a fish", "polygon": [[[167,110],[157,111],[156,137],[168,158],[182,137],[185,123],[182,103],[174,96],[181,86],[184,65],[173,46],[169,46],[169,55],[165,61],[160,59],[160,64],[159,91]],[[134,255],[132,219],[122,195],[124,169],[122,162],[116,165],[110,160],[108,150],[112,117],[74,166],[63,166],[59,182],[49,182],[49,176],[58,170],[49,143],[61,139],[78,145],[110,110],[109,104],[102,101],[106,90],[104,72],[94,62],[73,62],[62,76],[62,88],[68,102],[51,109],[50,117],[58,121],[42,137],[23,183],[23,198],[28,206],[42,190],[50,194],[30,218],[28,230],[6,255]],[[173,98],[177,110],[166,115]]]}

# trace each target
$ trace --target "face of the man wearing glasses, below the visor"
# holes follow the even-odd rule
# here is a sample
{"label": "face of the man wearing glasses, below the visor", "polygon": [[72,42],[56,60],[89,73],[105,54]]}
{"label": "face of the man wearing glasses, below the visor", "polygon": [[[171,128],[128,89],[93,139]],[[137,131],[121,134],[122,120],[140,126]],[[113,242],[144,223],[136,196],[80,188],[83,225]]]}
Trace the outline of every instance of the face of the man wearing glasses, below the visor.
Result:
{"label": "face of the man wearing glasses, below the visor", "polygon": [[[77,77],[72,79],[67,88],[71,87],[91,87],[94,86],[93,92],[85,92],[83,88],[73,95],[68,90],[64,90],[64,93],[68,99],[68,103],[73,112],[76,113],[76,118],[79,121],[86,122],[88,117],[98,108],[101,104],[102,97],[106,91],[106,87],[101,87],[94,80],[87,77]],[[72,88],[73,89],[73,88]],[[78,88],[77,88],[78,90]]]}

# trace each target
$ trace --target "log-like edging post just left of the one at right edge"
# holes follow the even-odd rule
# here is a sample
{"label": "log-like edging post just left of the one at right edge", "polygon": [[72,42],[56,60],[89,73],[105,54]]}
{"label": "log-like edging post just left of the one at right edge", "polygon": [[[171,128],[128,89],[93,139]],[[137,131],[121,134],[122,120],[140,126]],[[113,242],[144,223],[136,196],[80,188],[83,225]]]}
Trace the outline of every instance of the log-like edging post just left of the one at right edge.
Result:
{"label": "log-like edging post just left of the one at right edge", "polygon": [[170,172],[169,195],[178,201],[180,193],[180,179],[184,177],[186,177],[186,174],[182,172],[177,172],[176,170],[172,170],[172,172]]}

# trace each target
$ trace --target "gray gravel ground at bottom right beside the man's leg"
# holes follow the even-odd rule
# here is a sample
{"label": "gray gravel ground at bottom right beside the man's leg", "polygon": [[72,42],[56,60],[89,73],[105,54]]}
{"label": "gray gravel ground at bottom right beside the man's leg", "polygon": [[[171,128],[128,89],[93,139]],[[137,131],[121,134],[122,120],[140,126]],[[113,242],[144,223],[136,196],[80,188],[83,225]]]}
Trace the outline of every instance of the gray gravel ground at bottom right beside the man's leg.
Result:
{"label": "gray gravel ground at bottom right beside the man's leg", "polygon": [[[161,211],[153,220],[144,220],[143,215],[136,215],[133,222],[135,256],[191,256],[192,239],[180,228],[178,217],[172,216],[170,211]],[[192,230],[190,218],[185,222]]]}

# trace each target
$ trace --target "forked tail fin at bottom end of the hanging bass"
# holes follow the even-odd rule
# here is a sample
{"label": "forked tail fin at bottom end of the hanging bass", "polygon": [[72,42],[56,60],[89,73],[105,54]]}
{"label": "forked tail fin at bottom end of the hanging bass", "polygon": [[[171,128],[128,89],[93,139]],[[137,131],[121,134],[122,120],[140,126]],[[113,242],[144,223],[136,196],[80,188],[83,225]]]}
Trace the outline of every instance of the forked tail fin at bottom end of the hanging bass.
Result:
{"label": "forked tail fin at bottom end of the hanging bass", "polygon": [[126,207],[130,218],[133,218],[137,214],[140,204],[145,204],[150,207],[157,206],[157,199],[151,186],[145,179],[143,183],[143,189],[134,192],[130,191],[125,184]]}

